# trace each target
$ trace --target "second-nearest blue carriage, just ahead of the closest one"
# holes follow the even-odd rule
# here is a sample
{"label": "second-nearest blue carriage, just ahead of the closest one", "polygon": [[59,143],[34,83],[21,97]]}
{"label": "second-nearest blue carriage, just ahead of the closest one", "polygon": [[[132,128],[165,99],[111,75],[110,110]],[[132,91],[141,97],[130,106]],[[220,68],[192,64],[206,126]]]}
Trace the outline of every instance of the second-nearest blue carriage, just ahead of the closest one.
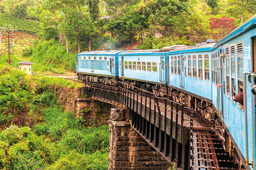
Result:
{"label": "second-nearest blue carriage, just ahead of the closest one", "polygon": [[169,51],[169,95],[176,102],[193,106],[209,120],[214,120],[211,94],[211,48],[213,39],[195,46]]}

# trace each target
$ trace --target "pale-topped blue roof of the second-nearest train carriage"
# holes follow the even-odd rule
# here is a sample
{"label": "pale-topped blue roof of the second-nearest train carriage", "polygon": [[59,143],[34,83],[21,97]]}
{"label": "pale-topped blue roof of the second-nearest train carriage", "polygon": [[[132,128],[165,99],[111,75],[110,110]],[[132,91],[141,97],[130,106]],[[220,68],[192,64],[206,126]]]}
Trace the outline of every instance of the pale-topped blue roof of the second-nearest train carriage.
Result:
{"label": "pale-topped blue roof of the second-nearest train carriage", "polygon": [[186,48],[169,51],[167,54],[189,53],[189,52],[203,52],[210,51],[216,43],[207,43],[202,45],[187,46]]}

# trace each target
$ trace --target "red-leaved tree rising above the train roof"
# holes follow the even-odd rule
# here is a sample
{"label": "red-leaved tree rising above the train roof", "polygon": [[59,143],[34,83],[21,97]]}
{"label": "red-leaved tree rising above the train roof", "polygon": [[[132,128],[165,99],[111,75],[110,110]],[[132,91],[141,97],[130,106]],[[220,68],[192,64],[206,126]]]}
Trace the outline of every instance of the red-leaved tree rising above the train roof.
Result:
{"label": "red-leaved tree rising above the train roof", "polygon": [[210,18],[210,29],[213,31],[214,39],[220,41],[221,38],[228,35],[237,26],[235,26],[235,19],[228,17]]}

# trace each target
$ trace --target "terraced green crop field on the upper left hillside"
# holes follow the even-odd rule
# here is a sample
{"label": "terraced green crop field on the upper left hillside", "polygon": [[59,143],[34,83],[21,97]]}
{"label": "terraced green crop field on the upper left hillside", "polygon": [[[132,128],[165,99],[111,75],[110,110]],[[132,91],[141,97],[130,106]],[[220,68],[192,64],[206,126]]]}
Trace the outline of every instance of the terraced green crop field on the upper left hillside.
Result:
{"label": "terraced green crop field on the upper left hillside", "polygon": [[36,34],[41,30],[40,23],[34,20],[26,20],[14,15],[0,14],[0,27],[13,25],[18,31],[25,31],[30,34]]}

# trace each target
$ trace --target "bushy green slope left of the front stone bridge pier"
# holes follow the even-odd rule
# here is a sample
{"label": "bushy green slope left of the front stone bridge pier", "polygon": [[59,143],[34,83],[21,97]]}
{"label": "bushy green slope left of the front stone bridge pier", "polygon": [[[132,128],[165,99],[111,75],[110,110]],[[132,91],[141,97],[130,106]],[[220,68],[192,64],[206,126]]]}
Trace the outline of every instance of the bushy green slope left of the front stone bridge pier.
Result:
{"label": "bushy green slope left of the front stone bridge pier", "polygon": [[11,67],[0,71],[0,169],[106,170],[109,126],[85,127],[63,112],[53,86],[78,87]]}

